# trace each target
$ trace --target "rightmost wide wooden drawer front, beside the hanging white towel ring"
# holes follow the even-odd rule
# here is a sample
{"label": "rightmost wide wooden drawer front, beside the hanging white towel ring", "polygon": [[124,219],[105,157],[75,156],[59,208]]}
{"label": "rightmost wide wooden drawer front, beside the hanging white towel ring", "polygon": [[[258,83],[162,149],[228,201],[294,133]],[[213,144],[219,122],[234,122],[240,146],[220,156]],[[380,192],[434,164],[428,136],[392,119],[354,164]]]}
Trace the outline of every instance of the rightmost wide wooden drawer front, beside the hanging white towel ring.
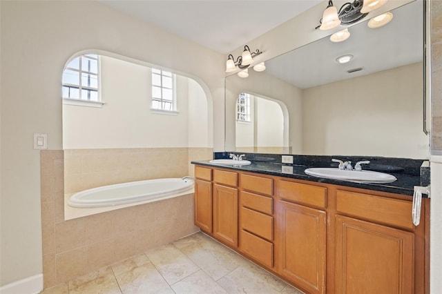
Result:
{"label": "rightmost wide wooden drawer front, beside the hanging white towel ring", "polygon": [[383,224],[414,228],[412,202],[405,200],[338,190],[336,210],[339,213],[363,217]]}

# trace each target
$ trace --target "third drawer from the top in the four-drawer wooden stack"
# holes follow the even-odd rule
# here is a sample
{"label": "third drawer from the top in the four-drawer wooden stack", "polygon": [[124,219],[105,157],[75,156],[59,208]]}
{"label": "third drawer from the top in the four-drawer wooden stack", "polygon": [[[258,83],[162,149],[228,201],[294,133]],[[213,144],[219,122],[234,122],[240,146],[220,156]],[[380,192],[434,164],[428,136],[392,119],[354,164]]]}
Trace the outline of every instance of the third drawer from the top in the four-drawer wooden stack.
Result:
{"label": "third drawer from the top in the four-drawer wooden stack", "polygon": [[273,217],[255,210],[241,208],[241,228],[273,241]]}

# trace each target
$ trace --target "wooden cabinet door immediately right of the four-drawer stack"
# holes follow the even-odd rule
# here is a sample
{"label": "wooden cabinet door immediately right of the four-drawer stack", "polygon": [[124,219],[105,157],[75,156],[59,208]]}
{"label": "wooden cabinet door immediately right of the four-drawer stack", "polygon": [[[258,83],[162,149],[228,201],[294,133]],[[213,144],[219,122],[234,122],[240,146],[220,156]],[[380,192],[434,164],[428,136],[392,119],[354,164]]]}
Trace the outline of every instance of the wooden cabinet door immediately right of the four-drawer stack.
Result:
{"label": "wooden cabinet door immediately right of the four-drawer stack", "polygon": [[308,293],[325,293],[325,211],[278,201],[278,273]]}

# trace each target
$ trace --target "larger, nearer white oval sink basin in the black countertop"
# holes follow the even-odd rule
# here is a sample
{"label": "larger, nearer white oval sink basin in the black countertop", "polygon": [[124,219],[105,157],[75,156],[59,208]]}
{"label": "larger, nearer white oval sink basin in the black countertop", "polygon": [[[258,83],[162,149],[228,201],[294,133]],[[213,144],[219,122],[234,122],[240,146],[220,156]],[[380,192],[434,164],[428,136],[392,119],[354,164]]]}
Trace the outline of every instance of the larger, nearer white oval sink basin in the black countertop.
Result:
{"label": "larger, nearer white oval sink basin in the black countertop", "polygon": [[307,168],[307,175],[325,177],[327,179],[343,179],[345,181],[362,183],[390,183],[396,181],[394,175],[378,173],[370,170],[340,170],[338,168]]}

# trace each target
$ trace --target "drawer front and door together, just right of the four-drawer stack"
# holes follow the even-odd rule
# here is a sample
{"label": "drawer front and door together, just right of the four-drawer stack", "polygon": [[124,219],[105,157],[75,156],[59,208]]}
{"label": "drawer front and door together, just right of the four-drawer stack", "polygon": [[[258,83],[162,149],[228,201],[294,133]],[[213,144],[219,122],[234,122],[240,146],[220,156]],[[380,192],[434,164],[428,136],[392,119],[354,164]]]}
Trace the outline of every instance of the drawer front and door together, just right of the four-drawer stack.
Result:
{"label": "drawer front and door together, just right of the four-drawer stack", "polygon": [[309,293],[325,293],[327,188],[278,181],[278,273]]}

